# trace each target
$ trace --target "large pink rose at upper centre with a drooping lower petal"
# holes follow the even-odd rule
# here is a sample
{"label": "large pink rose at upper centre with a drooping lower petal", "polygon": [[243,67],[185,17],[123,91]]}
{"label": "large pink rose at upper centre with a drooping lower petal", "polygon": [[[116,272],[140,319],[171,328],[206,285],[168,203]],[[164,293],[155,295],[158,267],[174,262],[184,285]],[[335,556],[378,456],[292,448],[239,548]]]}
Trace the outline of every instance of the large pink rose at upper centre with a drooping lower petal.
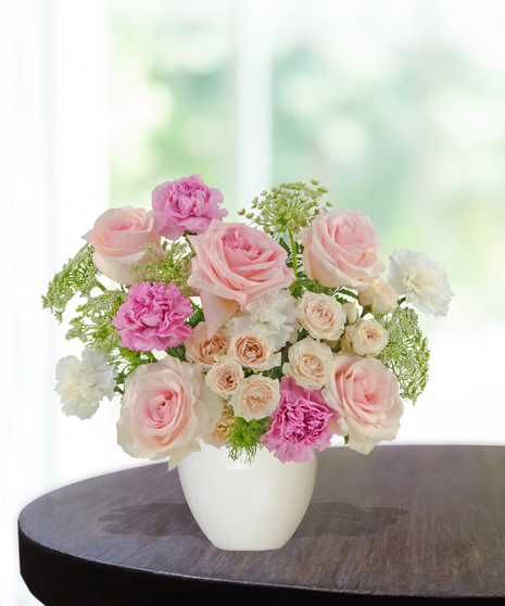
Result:
{"label": "large pink rose at upper centre with a drooping lower petal", "polygon": [[188,285],[200,291],[210,336],[239,307],[294,280],[285,249],[254,227],[213,220],[205,233],[188,239],[197,253]]}

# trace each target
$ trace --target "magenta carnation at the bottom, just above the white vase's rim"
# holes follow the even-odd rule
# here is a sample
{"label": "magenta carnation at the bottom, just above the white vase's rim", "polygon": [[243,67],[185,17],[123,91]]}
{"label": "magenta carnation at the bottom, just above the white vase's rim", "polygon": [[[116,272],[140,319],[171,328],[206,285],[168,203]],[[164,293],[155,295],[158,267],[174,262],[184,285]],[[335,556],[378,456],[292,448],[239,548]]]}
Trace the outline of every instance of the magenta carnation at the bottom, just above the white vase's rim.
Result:
{"label": "magenta carnation at the bottom, just above the white vase's rim", "polygon": [[282,463],[305,463],[314,458],[315,447],[324,451],[330,445],[328,424],[337,420],[337,414],[320,390],[308,391],[282,377],[280,403],[270,419],[270,429],[262,435],[266,447]]}

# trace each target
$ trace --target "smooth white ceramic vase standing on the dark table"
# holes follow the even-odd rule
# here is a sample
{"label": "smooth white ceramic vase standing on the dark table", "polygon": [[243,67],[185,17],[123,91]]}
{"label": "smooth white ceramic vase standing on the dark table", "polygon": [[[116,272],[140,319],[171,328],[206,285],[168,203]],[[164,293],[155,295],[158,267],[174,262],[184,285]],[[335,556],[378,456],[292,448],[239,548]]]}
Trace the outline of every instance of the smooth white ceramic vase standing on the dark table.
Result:
{"label": "smooth white ceramic vase standing on the dark table", "polygon": [[201,443],[178,465],[189,508],[205,536],[219,550],[282,547],[308,507],[317,458],[280,463],[261,449],[252,464],[233,462],[226,446]]}

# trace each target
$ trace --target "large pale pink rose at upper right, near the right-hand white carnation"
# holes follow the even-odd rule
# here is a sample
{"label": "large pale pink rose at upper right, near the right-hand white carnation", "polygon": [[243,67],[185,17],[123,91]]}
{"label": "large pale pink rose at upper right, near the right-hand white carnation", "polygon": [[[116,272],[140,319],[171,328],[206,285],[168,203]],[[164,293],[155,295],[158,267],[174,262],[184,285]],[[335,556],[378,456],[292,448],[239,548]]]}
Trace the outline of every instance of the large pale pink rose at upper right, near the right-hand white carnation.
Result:
{"label": "large pale pink rose at upper right, near the right-hand white carnation", "polygon": [[299,237],[306,275],[324,287],[365,290],[386,269],[377,252],[382,244],[361,211],[321,212]]}

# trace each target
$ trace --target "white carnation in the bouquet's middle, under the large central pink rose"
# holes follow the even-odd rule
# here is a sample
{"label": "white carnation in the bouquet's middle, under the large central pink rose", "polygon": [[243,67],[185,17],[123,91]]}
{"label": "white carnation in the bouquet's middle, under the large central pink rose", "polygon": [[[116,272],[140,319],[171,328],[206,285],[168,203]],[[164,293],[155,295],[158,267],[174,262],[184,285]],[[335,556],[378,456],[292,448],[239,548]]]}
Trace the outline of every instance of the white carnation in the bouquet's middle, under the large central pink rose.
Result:
{"label": "white carnation in the bouquet's middle, under the large central pink rose", "polygon": [[230,334],[241,330],[269,334],[278,351],[291,339],[295,340],[300,328],[296,300],[287,290],[265,292],[236,314],[226,328]]}

